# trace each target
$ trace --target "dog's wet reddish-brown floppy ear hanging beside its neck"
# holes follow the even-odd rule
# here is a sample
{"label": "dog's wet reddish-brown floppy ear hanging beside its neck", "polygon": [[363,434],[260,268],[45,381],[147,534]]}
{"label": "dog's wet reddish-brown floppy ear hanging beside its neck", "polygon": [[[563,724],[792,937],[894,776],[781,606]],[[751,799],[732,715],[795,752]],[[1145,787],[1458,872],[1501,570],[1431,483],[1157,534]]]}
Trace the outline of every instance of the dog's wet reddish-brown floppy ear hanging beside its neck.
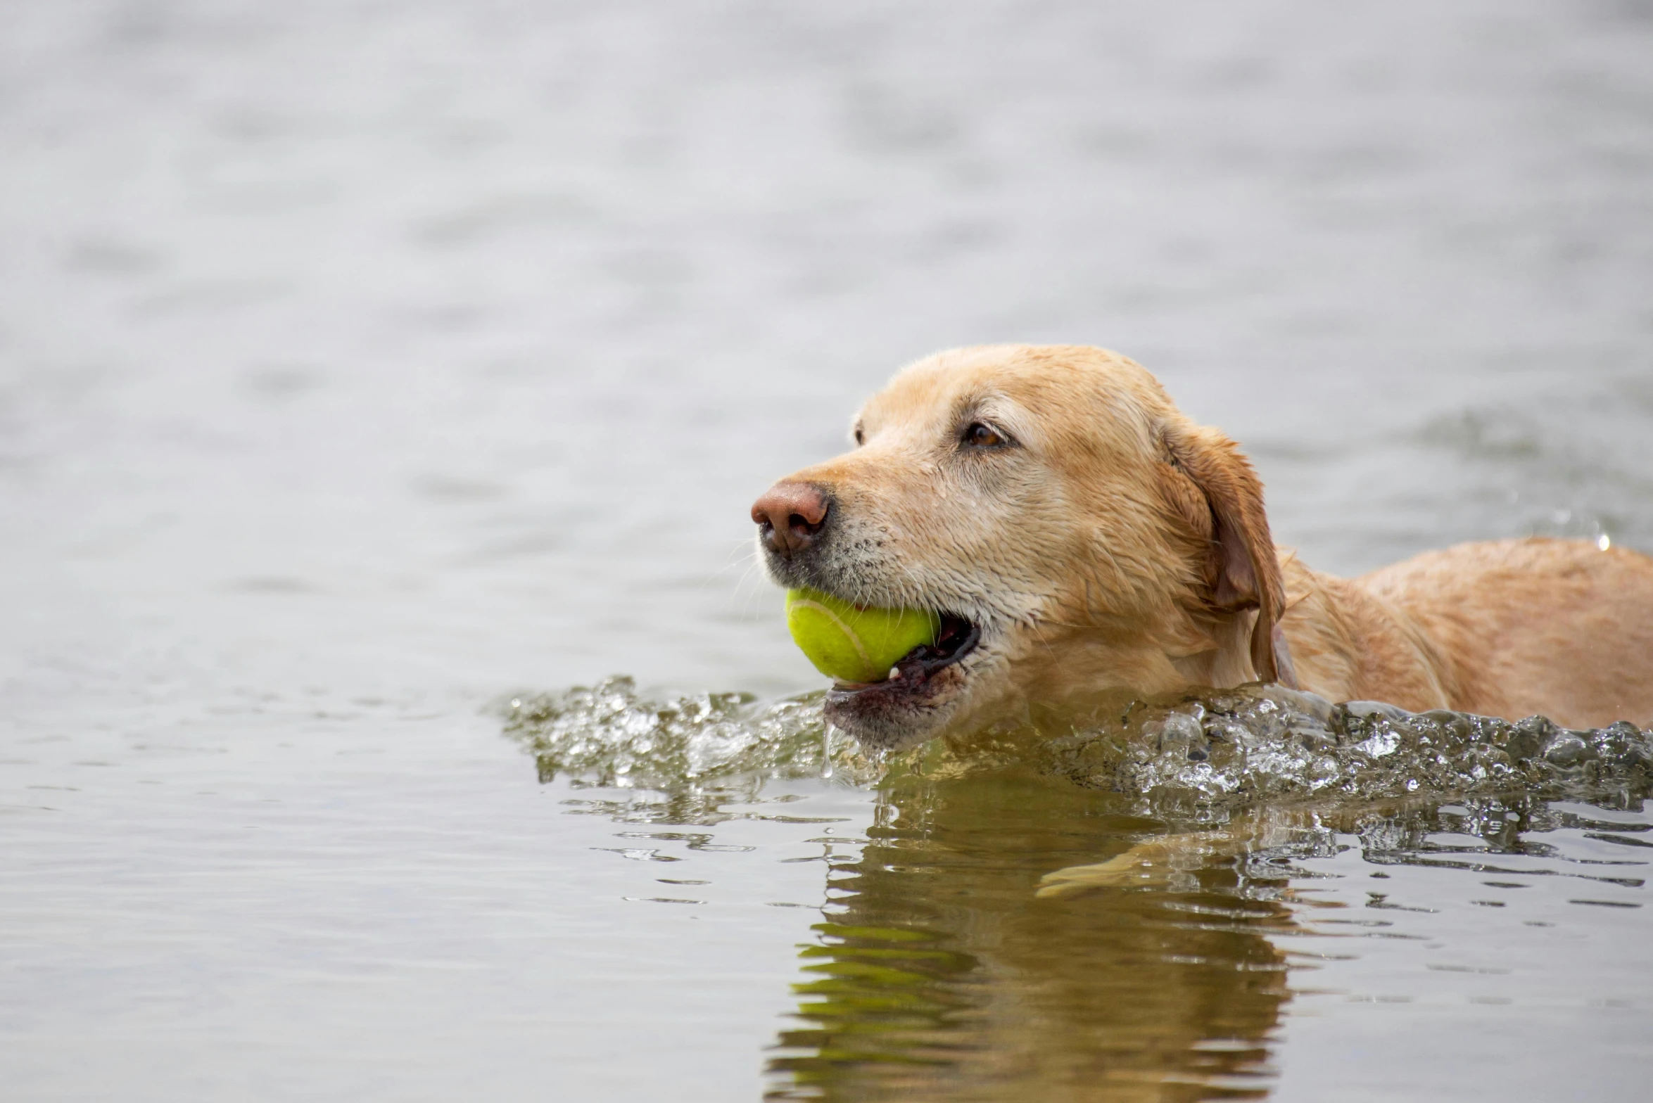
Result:
{"label": "dog's wet reddish-brown floppy ear hanging beside its neck", "polygon": [[1235,443],[1217,429],[1165,424],[1160,439],[1172,467],[1167,477],[1172,504],[1207,540],[1207,604],[1222,613],[1256,609],[1251,665],[1265,682],[1296,689],[1291,654],[1278,627],[1286,613],[1286,585],[1263,512],[1263,482]]}

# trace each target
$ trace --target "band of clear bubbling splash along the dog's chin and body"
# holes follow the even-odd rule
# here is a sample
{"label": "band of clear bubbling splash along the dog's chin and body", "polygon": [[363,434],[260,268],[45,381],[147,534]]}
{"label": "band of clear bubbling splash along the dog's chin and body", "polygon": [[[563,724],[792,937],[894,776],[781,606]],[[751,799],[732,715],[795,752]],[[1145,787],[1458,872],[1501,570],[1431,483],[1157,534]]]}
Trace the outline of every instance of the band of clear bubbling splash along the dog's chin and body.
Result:
{"label": "band of clear bubbling splash along the dog's chin and body", "polygon": [[[562,776],[577,788],[666,793],[676,804],[645,817],[678,822],[709,822],[719,804],[755,799],[767,779],[873,786],[903,773],[1007,766],[1126,793],[1162,811],[1298,798],[1521,791],[1593,799],[1653,791],[1653,731],[1632,723],[1569,730],[1542,717],[1511,723],[1446,710],[1408,713],[1246,685],[1137,698],[1079,727],[1028,723],[883,758],[833,731],[822,697],[650,700],[631,679],[615,677],[516,695],[501,712],[506,733],[534,755],[541,781]],[[593,811],[612,811],[607,804]]]}

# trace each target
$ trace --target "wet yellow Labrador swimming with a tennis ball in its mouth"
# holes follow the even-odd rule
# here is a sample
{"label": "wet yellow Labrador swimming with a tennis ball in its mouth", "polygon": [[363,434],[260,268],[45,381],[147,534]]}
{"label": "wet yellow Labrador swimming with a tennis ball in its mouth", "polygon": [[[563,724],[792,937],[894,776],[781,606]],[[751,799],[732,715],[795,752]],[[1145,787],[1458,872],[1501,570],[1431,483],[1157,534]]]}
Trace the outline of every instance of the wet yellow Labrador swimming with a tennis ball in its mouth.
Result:
{"label": "wet yellow Labrador swimming with a tennis ball in its mouth", "polygon": [[1233,441],[1099,348],[921,360],[855,447],[752,507],[775,581],[942,614],[826,715],[904,748],[1121,689],[1281,682],[1569,727],[1653,718],[1653,560],[1570,540],[1430,552],[1362,578],[1274,548]]}

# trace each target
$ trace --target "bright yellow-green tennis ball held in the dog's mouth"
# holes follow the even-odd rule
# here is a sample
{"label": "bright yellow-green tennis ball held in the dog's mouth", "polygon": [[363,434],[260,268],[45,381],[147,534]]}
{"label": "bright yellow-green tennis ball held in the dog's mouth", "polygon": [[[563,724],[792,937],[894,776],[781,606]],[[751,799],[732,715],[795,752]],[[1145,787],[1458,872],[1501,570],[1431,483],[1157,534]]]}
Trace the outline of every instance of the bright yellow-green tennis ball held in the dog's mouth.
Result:
{"label": "bright yellow-green tennis ball held in the dog's mouth", "polygon": [[863,609],[818,589],[788,589],[787,627],[826,677],[883,682],[901,656],[936,642],[941,618],[921,609]]}

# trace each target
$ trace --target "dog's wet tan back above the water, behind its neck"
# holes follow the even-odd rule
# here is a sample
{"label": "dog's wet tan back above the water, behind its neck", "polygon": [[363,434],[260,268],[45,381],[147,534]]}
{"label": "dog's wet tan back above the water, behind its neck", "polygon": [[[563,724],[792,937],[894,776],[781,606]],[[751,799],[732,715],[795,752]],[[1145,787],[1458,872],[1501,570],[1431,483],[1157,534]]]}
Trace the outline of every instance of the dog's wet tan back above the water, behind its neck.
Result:
{"label": "dog's wet tan back above the water, behind its neck", "polygon": [[1355,580],[1443,657],[1451,705],[1567,727],[1653,720],[1653,560],[1577,540],[1427,552]]}

